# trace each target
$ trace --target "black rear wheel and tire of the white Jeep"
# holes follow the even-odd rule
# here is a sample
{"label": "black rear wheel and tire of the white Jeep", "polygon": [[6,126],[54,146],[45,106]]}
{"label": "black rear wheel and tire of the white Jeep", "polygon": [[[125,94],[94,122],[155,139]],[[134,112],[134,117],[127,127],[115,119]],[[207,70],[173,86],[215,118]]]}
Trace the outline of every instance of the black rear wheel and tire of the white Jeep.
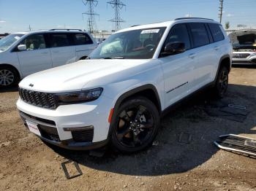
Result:
{"label": "black rear wheel and tire of the white Jeep", "polygon": [[217,80],[214,86],[214,95],[217,98],[223,98],[227,92],[228,86],[228,70],[226,66],[219,69]]}

